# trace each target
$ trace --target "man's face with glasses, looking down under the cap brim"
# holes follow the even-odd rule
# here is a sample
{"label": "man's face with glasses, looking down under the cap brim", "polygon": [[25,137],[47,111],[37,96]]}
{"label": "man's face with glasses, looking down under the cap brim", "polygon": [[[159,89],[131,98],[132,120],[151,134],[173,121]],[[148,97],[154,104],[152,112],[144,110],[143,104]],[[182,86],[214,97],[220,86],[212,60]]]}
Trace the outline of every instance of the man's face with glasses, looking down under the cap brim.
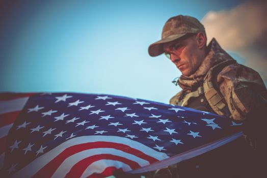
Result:
{"label": "man's face with glasses, looking down under the cap brim", "polygon": [[164,50],[170,55],[171,61],[184,76],[194,74],[203,61],[195,35],[167,43],[164,45]]}

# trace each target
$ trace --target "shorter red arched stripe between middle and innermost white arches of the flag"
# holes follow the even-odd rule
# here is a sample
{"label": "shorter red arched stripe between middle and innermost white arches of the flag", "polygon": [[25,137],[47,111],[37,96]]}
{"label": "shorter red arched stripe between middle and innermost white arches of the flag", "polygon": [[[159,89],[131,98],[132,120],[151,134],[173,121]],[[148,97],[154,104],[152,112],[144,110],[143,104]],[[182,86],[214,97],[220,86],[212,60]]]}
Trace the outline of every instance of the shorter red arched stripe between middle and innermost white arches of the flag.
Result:
{"label": "shorter red arched stripe between middle and innermost white arches of the flag", "polygon": [[[65,178],[71,178],[71,177],[81,177],[84,171],[88,166],[90,166],[92,163],[98,161],[98,160],[115,160],[123,162],[131,167],[131,169],[137,169],[140,167],[140,165],[134,161],[131,161],[129,159],[116,156],[116,155],[110,155],[110,154],[102,154],[102,155],[94,155],[88,158],[85,158],[79,162],[77,162],[70,171],[66,174]],[[110,174],[112,175],[112,174]]]}

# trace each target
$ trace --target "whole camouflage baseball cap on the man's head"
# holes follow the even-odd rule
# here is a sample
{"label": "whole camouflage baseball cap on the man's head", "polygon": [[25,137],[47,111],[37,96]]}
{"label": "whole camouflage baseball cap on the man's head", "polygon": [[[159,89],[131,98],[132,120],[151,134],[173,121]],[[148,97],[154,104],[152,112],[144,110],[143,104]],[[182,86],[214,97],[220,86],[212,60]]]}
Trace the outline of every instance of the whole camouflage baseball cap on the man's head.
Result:
{"label": "whole camouflage baseball cap on the man's head", "polygon": [[199,32],[205,33],[205,28],[198,19],[183,15],[171,17],[163,27],[162,39],[151,44],[148,47],[148,53],[151,56],[162,54],[164,43],[177,40],[189,33],[197,34]]}

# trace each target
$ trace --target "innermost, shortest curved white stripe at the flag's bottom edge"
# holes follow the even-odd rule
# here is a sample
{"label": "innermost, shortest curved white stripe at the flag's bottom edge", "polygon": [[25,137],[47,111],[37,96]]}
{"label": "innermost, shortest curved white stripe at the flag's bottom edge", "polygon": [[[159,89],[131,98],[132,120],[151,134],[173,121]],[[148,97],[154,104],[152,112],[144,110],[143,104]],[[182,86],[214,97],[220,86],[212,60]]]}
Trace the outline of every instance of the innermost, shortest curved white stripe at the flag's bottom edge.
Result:
{"label": "innermost, shortest curved white stripe at the flag's bottom edge", "polygon": [[87,169],[82,174],[81,178],[88,177],[89,175],[93,173],[101,173],[105,170],[106,167],[116,167],[117,169],[122,167],[122,170],[128,171],[131,170],[131,168],[120,161],[113,161],[113,160],[99,160],[91,164],[87,167]]}

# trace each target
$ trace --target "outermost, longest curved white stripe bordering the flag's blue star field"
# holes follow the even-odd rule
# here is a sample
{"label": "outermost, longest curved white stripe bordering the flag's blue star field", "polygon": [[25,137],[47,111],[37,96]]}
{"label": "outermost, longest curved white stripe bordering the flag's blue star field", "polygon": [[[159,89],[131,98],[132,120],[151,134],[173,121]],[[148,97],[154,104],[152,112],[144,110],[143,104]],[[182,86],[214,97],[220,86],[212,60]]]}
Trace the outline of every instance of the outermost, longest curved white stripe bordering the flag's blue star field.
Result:
{"label": "outermost, longest curved white stripe bordering the flag's blue star field", "polygon": [[153,149],[150,149],[150,147],[142,143],[139,143],[137,141],[131,140],[129,138],[123,138],[118,136],[101,136],[101,135],[81,136],[63,142],[62,144],[50,150],[46,154],[35,159],[33,162],[31,162],[21,170],[17,171],[15,174],[12,175],[12,177],[21,177],[22,174],[24,177],[32,177],[43,166],[45,166],[52,159],[57,157],[66,148],[76,144],[96,142],[96,141],[108,141],[108,142],[122,143],[125,145],[131,145],[130,147],[132,147],[133,149],[141,150],[144,154],[149,155],[157,160],[163,160],[169,158],[165,153],[157,152]]}

